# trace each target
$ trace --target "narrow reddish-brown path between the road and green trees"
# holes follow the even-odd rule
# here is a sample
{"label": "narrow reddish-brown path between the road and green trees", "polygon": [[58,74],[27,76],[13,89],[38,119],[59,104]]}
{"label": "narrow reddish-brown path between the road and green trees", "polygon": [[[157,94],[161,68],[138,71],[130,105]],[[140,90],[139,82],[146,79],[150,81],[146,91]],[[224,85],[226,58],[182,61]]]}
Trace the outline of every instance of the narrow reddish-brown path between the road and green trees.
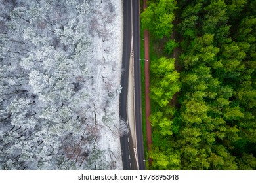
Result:
{"label": "narrow reddish-brown path between the road and green trees", "polygon": [[[143,8],[146,9],[146,0],[143,2]],[[152,131],[151,131],[151,124],[150,120],[148,120],[150,116],[150,67],[149,67],[149,37],[148,31],[144,31],[144,58],[145,58],[145,100],[146,100],[146,136],[147,136],[147,144],[148,144],[148,152],[150,151],[150,147],[152,145]],[[149,165],[152,163],[152,159],[148,159]]]}

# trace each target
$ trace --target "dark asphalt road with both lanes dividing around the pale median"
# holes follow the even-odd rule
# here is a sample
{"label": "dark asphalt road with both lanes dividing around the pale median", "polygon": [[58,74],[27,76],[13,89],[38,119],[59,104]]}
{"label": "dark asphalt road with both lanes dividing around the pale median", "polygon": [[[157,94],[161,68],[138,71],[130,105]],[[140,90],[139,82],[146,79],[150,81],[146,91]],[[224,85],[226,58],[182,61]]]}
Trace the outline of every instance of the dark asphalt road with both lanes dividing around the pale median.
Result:
{"label": "dark asphalt road with both lanes dividing around the pale median", "polygon": [[[120,94],[120,117],[127,121],[127,91],[129,77],[129,61],[131,56],[131,46],[134,54],[134,84],[135,84],[135,125],[137,139],[137,160],[133,151],[133,141],[131,133],[121,137],[121,151],[123,159],[123,169],[145,169],[144,144],[142,133],[141,117],[141,81],[140,81],[140,15],[139,0],[123,0],[123,75],[121,76]],[[133,24],[133,25],[131,25]],[[133,45],[131,45],[131,33],[133,33]]]}

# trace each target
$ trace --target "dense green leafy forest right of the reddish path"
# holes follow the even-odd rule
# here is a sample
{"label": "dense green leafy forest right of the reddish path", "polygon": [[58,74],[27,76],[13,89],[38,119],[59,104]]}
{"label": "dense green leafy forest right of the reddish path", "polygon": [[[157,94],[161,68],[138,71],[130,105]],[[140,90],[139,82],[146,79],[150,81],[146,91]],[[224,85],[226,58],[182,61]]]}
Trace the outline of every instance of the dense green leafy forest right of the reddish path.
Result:
{"label": "dense green leafy forest right of the reddish path", "polygon": [[150,169],[256,169],[256,1],[147,7]]}

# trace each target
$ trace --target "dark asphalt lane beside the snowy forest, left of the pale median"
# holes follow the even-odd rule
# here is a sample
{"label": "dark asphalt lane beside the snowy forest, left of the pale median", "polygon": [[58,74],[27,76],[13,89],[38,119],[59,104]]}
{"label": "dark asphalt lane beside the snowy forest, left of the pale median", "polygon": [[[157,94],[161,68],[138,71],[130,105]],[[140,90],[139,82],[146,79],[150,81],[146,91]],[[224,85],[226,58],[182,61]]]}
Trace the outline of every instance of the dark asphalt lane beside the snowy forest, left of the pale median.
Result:
{"label": "dark asphalt lane beside the snowy forest, left of the pale median", "polygon": [[[131,55],[131,1],[123,0],[123,74],[121,75],[121,94],[119,104],[120,118],[127,121],[127,92],[129,78],[129,62]],[[129,130],[130,131],[130,130]],[[131,133],[121,137],[121,152],[124,170],[138,169]]]}

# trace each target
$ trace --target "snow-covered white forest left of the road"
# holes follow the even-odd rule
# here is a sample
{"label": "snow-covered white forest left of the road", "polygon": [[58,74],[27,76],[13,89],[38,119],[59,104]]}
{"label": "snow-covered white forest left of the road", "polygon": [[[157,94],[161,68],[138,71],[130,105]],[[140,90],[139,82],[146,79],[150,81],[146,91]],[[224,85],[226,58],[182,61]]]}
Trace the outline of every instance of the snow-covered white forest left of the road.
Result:
{"label": "snow-covered white forest left of the road", "polygon": [[0,169],[122,169],[121,1],[0,7]]}

